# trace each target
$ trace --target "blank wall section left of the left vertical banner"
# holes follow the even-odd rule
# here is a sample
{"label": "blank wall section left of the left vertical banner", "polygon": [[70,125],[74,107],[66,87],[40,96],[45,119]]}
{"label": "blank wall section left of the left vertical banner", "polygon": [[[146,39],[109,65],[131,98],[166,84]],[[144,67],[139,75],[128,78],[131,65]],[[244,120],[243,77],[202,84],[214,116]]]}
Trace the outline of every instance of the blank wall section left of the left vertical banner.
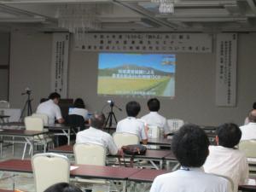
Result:
{"label": "blank wall section left of the left vertical banner", "polygon": [[12,32],[10,49],[9,101],[23,108],[26,88],[32,90],[32,108],[49,95],[51,34]]}

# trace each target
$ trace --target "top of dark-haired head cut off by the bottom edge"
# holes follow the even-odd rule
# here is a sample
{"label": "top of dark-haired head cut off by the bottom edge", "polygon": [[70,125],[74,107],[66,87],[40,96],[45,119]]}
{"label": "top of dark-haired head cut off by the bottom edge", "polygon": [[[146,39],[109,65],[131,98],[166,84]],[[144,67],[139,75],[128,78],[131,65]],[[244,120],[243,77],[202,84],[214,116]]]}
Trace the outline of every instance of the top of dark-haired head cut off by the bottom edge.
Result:
{"label": "top of dark-haired head cut off by the bottom edge", "polygon": [[44,192],[82,192],[82,190],[69,183],[63,182],[63,183],[55,183],[49,186],[49,188],[45,189]]}

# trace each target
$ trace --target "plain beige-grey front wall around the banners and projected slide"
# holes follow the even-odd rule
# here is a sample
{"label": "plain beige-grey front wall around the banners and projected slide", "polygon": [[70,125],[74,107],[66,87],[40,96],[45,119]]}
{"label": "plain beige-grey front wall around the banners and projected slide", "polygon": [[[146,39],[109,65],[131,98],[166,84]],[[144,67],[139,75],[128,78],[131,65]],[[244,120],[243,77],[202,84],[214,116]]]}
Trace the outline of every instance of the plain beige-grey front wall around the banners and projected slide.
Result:
{"label": "plain beige-grey front wall around the banners and projected slide", "polygon": [[[237,106],[215,106],[215,53],[177,54],[176,96],[160,99],[160,113],[167,118],[180,118],[200,125],[219,125],[232,121],[239,125],[256,101],[256,33],[241,33],[238,39]],[[39,98],[49,94],[51,34],[26,35],[19,32],[11,36],[10,98],[16,107],[24,102],[20,96],[26,86],[33,90],[36,105]],[[30,68],[32,70],[28,71]],[[22,73],[23,72],[23,73]],[[110,97],[96,95],[97,53],[74,51],[72,42],[69,55],[68,96],[82,97],[90,111],[102,110]],[[147,98],[113,96],[123,108],[115,110],[118,119],[125,117],[125,103],[137,100],[142,105],[140,116],[147,113]],[[104,112],[108,112],[108,106]]]}

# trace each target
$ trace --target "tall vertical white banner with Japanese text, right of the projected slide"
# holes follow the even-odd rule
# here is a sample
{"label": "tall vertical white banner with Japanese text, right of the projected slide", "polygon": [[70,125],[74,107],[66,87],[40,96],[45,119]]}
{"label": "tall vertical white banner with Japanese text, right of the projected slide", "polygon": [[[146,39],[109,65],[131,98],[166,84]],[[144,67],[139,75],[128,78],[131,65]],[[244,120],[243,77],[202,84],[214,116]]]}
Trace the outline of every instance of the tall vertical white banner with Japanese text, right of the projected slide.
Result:
{"label": "tall vertical white banner with Japanese text, right of the projected slide", "polygon": [[234,107],[236,106],[237,34],[218,34],[216,46],[216,105]]}

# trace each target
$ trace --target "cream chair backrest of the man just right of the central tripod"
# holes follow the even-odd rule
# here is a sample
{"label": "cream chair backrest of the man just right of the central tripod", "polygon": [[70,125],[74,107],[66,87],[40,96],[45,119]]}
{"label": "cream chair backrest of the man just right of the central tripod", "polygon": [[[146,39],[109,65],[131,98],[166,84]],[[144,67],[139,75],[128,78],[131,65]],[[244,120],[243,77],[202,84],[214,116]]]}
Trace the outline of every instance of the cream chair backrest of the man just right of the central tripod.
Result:
{"label": "cream chair backrest of the man just right of the central tripod", "polygon": [[124,145],[132,145],[132,144],[140,143],[140,138],[133,133],[114,132],[113,142],[116,144],[118,148],[121,148]]}

